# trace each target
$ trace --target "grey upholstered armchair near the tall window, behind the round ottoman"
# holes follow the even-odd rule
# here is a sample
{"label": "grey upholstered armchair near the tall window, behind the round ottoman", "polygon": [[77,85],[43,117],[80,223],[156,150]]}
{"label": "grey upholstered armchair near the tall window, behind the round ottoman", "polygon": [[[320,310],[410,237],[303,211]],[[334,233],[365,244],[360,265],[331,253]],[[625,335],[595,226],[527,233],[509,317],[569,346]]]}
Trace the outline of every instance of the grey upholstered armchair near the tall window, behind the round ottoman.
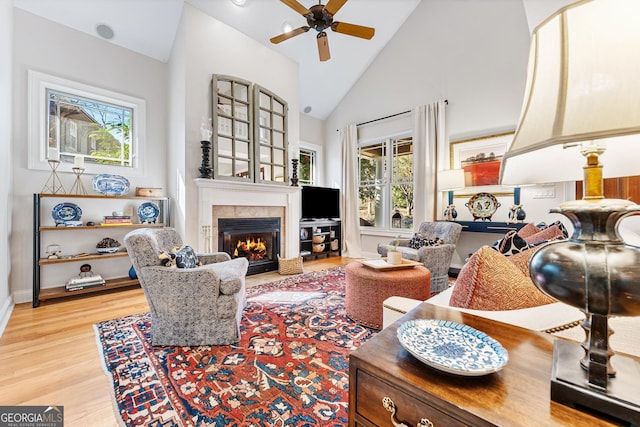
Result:
{"label": "grey upholstered armchair near the tall window, behind the round ottoman", "polygon": [[442,292],[449,286],[449,266],[456,249],[456,243],[462,232],[462,226],[455,222],[423,222],[416,233],[424,241],[441,240],[437,246],[422,246],[418,249],[410,246],[411,239],[396,239],[389,244],[378,244],[378,253],[386,257],[387,252],[397,242],[402,258],[418,261],[431,272],[431,292]]}

